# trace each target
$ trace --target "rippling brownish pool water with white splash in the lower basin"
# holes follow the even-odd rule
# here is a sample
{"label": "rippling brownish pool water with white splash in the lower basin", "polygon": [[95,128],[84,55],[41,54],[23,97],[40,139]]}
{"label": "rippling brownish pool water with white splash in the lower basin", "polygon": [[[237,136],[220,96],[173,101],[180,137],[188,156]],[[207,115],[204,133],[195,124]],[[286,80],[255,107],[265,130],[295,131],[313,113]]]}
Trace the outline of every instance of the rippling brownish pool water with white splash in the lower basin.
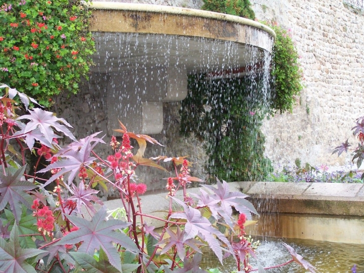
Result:
{"label": "rippling brownish pool water with white splash in the lower basin", "polygon": [[[357,273],[364,273],[364,245],[339,244],[300,239],[274,239],[262,242],[257,250],[258,262],[264,267],[272,267],[291,260],[287,249],[281,244],[284,242],[293,247],[298,254],[311,263],[320,273],[352,273],[351,268],[357,265]],[[221,272],[228,273],[236,270],[235,262],[229,257],[223,266],[213,258],[213,254],[204,257],[203,268],[219,268]],[[255,259],[250,260],[253,268]],[[306,273],[307,271],[296,263],[268,270],[267,273]]]}

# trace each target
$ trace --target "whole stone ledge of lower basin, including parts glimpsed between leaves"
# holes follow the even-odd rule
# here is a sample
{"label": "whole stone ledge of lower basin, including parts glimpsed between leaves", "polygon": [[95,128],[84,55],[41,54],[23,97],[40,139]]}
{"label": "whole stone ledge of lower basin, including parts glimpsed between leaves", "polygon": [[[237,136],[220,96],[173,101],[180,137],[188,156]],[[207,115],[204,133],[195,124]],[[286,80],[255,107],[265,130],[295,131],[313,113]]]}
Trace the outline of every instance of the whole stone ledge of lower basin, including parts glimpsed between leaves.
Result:
{"label": "whole stone ledge of lower basin, including parts glimpsed between leaves", "polygon": [[[250,195],[247,199],[259,213],[364,216],[363,184],[231,182],[228,185],[232,191]],[[313,194],[312,187],[320,189],[320,195],[318,192]],[[343,196],[338,195],[339,191]],[[187,192],[198,194],[199,189],[189,188]],[[167,192],[142,196],[143,213],[164,218],[169,206],[166,196]],[[182,191],[177,192],[176,198],[182,199]],[[105,205],[109,210],[122,207],[118,199],[106,201]],[[146,217],[144,220],[150,226],[161,227],[164,224]]]}

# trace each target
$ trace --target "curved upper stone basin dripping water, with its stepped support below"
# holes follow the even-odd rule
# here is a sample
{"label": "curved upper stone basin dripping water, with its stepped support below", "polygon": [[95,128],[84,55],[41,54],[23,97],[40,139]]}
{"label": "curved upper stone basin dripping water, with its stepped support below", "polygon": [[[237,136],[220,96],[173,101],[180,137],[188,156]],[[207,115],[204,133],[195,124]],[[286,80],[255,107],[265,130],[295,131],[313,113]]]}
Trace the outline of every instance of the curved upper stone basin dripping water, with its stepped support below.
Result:
{"label": "curved upper stone basin dripping water, with its stepped support below", "polygon": [[188,73],[241,77],[267,70],[275,33],[249,19],[182,7],[92,2],[94,72],[107,74],[108,132],[158,134],[163,102],[181,101]]}

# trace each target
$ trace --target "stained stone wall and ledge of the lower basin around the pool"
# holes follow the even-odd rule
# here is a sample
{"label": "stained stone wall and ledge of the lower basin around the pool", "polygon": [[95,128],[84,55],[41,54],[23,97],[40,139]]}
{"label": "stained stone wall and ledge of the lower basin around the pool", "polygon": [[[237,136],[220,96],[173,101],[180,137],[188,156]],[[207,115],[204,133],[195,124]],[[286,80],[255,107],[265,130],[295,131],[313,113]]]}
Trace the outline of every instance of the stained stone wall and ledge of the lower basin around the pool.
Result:
{"label": "stained stone wall and ledge of the lower basin around the pool", "polygon": [[[342,183],[231,182],[230,190],[250,195],[248,200],[260,214],[258,224],[247,234],[364,244],[364,185]],[[190,188],[188,193],[199,193]],[[166,192],[141,197],[143,213],[163,218],[169,201]],[[177,193],[179,199],[182,192]],[[108,209],[122,206],[120,200],[106,201]],[[155,227],[164,222],[144,218]]]}

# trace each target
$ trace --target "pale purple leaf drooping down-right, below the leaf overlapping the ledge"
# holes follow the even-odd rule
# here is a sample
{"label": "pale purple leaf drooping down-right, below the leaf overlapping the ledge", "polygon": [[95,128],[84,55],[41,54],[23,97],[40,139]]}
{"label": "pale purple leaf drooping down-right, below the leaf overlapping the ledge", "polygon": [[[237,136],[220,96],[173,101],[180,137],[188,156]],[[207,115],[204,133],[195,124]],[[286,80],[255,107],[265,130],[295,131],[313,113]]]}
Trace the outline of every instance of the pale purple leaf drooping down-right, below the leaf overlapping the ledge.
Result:
{"label": "pale purple leaf drooping down-right, below the leaf overlapping the ledge", "polygon": [[[184,209],[184,212],[174,213],[171,215],[171,218],[185,219],[187,221],[184,226],[184,240],[199,236],[202,240],[207,242],[208,246],[215,253],[222,264],[222,251],[227,251],[231,254],[233,253],[231,245],[226,237],[217,229],[215,229],[205,217],[202,217],[198,210],[185,205],[181,200],[176,198],[173,199]],[[220,241],[216,238],[224,243],[227,249],[221,246]]]}

